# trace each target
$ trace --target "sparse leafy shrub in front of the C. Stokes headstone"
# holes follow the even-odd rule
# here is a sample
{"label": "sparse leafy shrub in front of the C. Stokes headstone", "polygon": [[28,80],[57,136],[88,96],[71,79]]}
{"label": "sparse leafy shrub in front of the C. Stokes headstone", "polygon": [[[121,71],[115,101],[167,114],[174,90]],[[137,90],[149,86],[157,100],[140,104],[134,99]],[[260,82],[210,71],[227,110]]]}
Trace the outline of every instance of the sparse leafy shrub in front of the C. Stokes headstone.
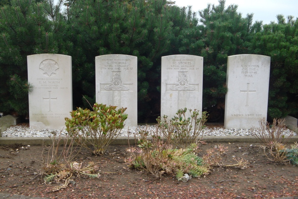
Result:
{"label": "sparse leafy shrub in front of the C. Stokes headstone", "polygon": [[[168,120],[164,115],[156,119],[163,135],[173,138],[172,142],[179,148],[186,148],[189,144],[198,143],[204,134],[204,123],[207,121],[206,111],[200,113],[196,109],[188,110],[190,117],[187,118],[187,108],[179,109],[174,118]],[[201,138],[199,138],[201,136]]]}

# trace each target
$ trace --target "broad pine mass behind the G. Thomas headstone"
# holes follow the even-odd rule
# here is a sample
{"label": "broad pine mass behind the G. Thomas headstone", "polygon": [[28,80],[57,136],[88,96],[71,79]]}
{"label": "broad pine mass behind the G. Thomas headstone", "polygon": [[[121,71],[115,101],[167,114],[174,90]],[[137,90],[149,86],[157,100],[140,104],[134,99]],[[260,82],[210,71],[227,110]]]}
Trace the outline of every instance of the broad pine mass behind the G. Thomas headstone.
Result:
{"label": "broad pine mass behind the G. Thomas headstone", "polygon": [[160,57],[170,47],[172,26],[166,4],[165,0],[89,0],[69,7],[68,35],[77,48],[72,54],[73,79],[81,85],[75,98],[84,95],[94,102],[94,57],[134,55],[138,57],[139,120],[159,115]]}

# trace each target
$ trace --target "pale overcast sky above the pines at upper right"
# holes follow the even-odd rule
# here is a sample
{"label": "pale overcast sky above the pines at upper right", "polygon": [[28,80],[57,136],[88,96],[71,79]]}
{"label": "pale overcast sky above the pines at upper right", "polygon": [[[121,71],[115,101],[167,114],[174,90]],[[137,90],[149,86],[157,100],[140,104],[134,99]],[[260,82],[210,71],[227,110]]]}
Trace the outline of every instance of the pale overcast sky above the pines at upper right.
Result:
{"label": "pale overcast sky above the pines at upper right", "polygon": [[[218,5],[218,0],[173,1],[176,1],[176,5],[180,7],[192,5],[194,12],[203,10],[208,3]],[[298,17],[298,0],[226,0],[226,6],[231,4],[238,5],[237,11],[242,13],[243,18],[247,13],[254,13],[253,21],[262,20],[263,24],[269,24],[270,21],[276,22],[277,14],[283,14],[285,17],[293,15],[294,19]]]}

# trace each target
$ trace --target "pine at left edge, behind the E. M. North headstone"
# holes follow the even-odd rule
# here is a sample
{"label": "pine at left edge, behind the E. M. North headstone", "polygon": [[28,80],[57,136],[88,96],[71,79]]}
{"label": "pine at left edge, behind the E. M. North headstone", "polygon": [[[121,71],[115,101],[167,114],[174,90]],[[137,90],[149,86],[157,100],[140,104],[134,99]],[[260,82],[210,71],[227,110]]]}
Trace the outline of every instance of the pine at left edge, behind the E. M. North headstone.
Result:
{"label": "pine at left edge, behind the E. M. North headstone", "polygon": [[59,30],[46,17],[46,3],[10,4],[0,10],[0,112],[28,117],[28,92],[34,85],[27,82],[27,55],[58,53]]}

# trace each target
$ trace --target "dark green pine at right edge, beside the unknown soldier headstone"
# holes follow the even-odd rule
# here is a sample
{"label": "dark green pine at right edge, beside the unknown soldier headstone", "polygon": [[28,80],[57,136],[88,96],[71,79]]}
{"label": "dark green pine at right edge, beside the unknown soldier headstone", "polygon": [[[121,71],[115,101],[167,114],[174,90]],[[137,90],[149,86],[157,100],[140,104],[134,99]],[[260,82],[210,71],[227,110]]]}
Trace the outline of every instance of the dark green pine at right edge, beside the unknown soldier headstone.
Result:
{"label": "dark green pine at right edge, beside the unknown soldier headstone", "polygon": [[277,23],[257,22],[252,53],[271,57],[268,116],[280,118],[298,113],[298,20],[277,15]]}

